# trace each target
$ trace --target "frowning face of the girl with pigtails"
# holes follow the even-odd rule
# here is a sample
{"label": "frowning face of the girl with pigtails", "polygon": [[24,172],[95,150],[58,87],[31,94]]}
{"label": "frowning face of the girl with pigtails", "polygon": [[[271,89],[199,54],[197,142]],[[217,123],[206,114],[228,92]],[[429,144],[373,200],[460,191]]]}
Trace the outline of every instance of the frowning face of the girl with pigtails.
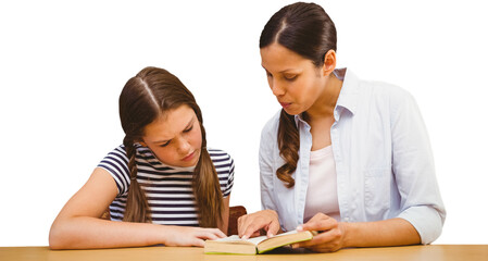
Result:
{"label": "frowning face of the girl with pigtails", "polygon": [[197,165],[202,134],[195,111],[188,105],[180,105],[164,113],[146,126],[140,144],[149,147],[167,165]]}

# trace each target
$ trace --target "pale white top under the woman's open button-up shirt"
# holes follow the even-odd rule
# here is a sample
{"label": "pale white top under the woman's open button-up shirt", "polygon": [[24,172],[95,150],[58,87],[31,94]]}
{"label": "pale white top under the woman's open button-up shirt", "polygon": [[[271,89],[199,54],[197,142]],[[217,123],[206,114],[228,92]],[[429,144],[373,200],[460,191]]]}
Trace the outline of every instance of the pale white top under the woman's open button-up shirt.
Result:
{"label": "pale white top under the woman's open button-up shirt", "polygon": [[331,146],[310,152],[309,187],[303,223],[316,213],[324,213],[340,221],[336,162]]}

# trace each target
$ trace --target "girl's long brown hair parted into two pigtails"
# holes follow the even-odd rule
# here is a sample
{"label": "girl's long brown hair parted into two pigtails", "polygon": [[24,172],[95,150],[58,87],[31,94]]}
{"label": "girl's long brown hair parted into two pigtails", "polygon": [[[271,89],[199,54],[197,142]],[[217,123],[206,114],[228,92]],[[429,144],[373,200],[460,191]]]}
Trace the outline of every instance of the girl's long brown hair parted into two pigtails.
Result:
{"label": "girl's long brown hair parted into two pigtails", "polygon": [[163,69],[146,67],[126,84],[118,98],[124,147],[128,158],[130,186],[124,221],[151,222],[145,191],[137,182],[136,147],[145,127],[163,113],[188,105],[197,115],[202,133],[200,159],[195,167],[192,188],[200,226],[216,227],[222,222],[224,202],[215,166],[207,150],[203,119],[193,95],[173,74]]}

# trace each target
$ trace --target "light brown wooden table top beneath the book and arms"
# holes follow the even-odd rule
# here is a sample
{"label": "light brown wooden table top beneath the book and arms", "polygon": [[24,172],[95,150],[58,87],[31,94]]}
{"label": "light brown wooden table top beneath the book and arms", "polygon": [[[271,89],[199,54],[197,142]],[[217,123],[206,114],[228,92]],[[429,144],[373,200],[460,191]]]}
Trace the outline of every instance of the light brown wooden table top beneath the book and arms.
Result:
{"label": "light brown wooden table top beneath the book and arms", "polygon": [[88,261],[166,261],[166,260],[468,260],[488,261],[488,245],[430,245],[389,248],[342,249],[334,253],[267,253],[258,256],[204,254],[202,248],[145,247],[99,250],[50,250],[48,247],[0,247],[1,261],[88,260]]}

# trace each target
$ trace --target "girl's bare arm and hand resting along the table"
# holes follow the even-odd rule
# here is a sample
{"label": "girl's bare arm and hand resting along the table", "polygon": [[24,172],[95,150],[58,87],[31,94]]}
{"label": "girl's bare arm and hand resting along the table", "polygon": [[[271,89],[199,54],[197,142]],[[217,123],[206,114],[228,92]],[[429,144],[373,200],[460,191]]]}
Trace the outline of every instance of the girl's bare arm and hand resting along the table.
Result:
{"label": "girl's bare arm and hand resting along the table", "polygon": [[51,249],[87,249],[166,246],[203,246],[203,239],[225,234],[217,228],[165,226],[101,220],[117,195],[112,176],[97,167],[54,220],[49,234]]}

